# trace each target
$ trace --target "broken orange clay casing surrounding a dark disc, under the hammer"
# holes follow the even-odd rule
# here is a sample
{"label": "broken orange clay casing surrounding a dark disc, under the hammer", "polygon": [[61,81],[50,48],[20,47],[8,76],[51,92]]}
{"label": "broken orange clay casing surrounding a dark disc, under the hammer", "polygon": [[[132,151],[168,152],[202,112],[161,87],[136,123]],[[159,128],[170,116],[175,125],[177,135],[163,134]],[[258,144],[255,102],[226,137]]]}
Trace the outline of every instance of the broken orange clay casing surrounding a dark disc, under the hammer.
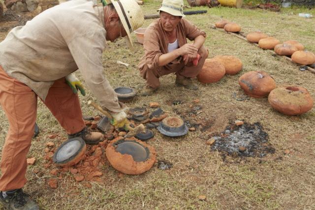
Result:
{"label": "broken orange clay casing surrounding a dark disc, under the hammer", "polygon": [[106,157],[110,164],[117,170],[124,174],[129,175],[139,175],[142,174],[149,169],[152,168],[152,166],[156,162],[156,151],[153,147],[147,145],[145,142],[142,142],[140,140],[137,140],[136,138],[131,138],[128,140],[132,140],[135,142],[138,142],[139,144],[143,145],[150,151],[150,156],[146,161],[142,162],[135,162],[133,160],[133,157],[129,154],[121,154],[120,152],[116,151],[115,143],[122,140],[122,137],[118,137],[111,141],[109,145],[106,148]]}

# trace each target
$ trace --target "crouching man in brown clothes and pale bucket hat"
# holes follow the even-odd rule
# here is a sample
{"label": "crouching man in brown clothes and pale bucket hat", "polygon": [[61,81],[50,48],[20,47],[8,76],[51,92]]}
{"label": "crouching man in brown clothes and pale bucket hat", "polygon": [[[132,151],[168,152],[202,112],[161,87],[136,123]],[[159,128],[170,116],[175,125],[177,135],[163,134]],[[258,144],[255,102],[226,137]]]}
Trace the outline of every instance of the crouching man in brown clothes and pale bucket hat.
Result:
{"label": "crouching man in brown clothes and pale bucket hat", "polygon": [[[147,81],[141,95],[152,95],[160,86],[159,77],[175,73],[176,84],[189,90],[198,86],[191,81],[198,75],[208,50],[203,46],[206,33],[183,17],[183,0],[163,0],[160,18],[144,33],[145,55],[138,64]],[[187,39],[193,40],[192,44]]]}

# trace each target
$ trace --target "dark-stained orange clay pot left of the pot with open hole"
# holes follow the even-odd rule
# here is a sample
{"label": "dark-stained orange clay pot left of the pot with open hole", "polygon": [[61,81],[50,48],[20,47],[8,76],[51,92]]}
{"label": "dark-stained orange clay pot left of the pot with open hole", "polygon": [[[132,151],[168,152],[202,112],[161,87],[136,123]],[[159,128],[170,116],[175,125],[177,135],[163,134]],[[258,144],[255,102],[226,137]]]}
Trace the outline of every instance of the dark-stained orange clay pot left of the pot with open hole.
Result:
{"label": "dark-stained orange clay pot left of the pot with open hole", "polygon": [[264,71],[250,71],[243,74],[238,82],[244,92],[254,98],[262,98],[276,88],[275,80]]}

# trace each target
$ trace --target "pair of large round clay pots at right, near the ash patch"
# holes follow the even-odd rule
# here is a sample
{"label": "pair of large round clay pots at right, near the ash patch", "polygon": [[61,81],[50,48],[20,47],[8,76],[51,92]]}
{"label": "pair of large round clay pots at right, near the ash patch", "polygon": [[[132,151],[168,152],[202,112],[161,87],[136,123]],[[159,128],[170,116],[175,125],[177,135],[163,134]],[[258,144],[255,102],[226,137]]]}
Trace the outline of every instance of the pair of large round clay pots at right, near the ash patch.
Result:
{"label": "pair of large round clay pots at right, near the ash patch", "polygon": [[314,101],[310,93],[302,87],[280,86],[264,71],[250,71],[238,80],[244,92],[255,98],[268,96],[270,105],[284,115],[301,115],[310,111]]}

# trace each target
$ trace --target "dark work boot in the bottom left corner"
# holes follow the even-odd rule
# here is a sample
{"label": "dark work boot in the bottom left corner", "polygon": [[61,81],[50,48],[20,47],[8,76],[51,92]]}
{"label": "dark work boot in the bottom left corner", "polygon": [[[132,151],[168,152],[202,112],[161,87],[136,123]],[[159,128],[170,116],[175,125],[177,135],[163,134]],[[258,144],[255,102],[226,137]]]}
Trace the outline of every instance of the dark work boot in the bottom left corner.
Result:
{"label": "dark work boot in the bottom left corner", "polygon": [[39,210],[38,205],[22,189],[10,190],[6,194],[3,198],[0,191],[0,202],[7,210]]}

